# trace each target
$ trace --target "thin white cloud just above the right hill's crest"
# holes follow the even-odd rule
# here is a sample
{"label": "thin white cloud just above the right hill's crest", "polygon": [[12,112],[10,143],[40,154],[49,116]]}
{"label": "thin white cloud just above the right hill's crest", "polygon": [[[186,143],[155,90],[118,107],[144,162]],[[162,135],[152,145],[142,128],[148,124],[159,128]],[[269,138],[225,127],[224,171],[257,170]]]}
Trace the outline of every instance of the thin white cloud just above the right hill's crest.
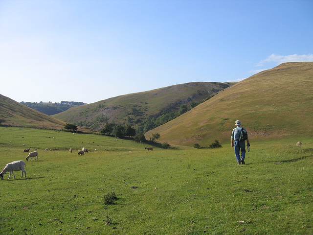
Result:
{"label": "thin white cloud just above the right hill's crest", "polygon": [[281,64],[285,62],[306,62],[306,61],[313,61],[313,54],[307,54],[307,55],[276,55],[271,54],[268,56],[267,59],[261,60],[257,66],[263,66],[265,63],[276,63]]}

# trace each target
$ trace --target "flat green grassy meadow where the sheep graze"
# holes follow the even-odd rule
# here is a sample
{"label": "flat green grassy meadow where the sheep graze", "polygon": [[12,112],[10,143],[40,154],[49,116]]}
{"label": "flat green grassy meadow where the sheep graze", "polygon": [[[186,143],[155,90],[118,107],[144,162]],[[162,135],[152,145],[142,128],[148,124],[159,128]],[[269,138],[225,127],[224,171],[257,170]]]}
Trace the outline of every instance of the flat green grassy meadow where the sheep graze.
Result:
{"label": "flat green grassy meadow where the sheep graze", "polygon": [[[25,161],[26,178],[0,181],[0,234],[313,234],[313,139],[297,141],[251,140],[237,165],[230,141],[147,151],[100,135],[0,127],[1,168],[25,161],[24,148],[39,153]],[[91,151],[77,156],[82,147]],[[106,205],[110,193],[117,198]]]}

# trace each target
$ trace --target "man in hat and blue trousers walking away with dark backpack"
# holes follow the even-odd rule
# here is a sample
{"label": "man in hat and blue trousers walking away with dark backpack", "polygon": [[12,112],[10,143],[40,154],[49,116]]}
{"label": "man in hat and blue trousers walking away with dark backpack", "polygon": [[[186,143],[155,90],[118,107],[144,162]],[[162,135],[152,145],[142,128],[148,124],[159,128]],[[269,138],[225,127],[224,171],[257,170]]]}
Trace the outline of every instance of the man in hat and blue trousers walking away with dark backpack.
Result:
{"label": "man in hat and blue trousers walking away with dark backpack", "polygon": [[[241,127],[240,120],[237,120],[235,125],[237,127],[234,128],[232,133],[231,133],[231,147],[234,147],[236,160],[238,162],[238,165],[240,165],[240,163],[245,164],[245,157],[246,157],[246,148],[245,147],[246,146],[245,146],[245,141],[239,141],[239,137],[240,137],[240,132],[243,129],[246,131],[246,129]],[[250,145],[248,139],[246,139],[246,143],[248,145]],[[239,151],[241,151],[241,157],[240,157]]]}

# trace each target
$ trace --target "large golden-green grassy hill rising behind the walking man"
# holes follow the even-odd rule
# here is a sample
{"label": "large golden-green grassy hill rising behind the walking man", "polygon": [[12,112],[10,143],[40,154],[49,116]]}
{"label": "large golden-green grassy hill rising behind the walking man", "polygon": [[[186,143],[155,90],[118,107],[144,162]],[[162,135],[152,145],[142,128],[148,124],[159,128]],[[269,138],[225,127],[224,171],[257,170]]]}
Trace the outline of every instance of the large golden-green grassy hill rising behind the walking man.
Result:
{"label": "large golden-green grassy hill rising behind the walking man", "polygon": [[281,64],[257,73],[215,95],[157,132],[171,144],[230,144],[240,119],[252,141],[313,136],[313,62]]}

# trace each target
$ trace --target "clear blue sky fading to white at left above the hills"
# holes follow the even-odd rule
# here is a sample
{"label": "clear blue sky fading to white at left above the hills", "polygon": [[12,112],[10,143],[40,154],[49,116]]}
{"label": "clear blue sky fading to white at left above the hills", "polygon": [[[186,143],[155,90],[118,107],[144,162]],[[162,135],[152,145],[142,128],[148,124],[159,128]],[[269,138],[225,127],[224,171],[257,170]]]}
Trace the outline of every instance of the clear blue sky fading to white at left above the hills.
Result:
{"label": "clear blue sky fading to white at left above the hills", "polygon": [[313,61],[312,0],[0,0],[0,94],[93,103]]}

